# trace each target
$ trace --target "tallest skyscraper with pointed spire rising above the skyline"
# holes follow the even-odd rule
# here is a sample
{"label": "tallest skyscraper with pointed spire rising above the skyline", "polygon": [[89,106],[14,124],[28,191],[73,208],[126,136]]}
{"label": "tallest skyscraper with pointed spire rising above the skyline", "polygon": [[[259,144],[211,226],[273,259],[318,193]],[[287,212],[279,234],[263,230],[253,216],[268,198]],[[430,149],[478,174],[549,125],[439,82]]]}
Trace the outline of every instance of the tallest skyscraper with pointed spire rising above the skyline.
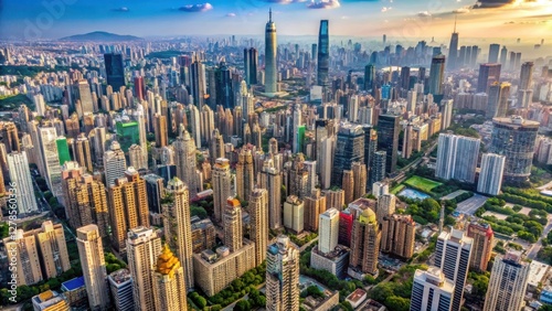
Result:
{"label": "tallest skyscraper with pointed spire rising above the skyline", "polygon": [[273,11],[270,9],[265,31],[265,93],[268,94],[278,92],[277,53],[276,24],[273,22]]}

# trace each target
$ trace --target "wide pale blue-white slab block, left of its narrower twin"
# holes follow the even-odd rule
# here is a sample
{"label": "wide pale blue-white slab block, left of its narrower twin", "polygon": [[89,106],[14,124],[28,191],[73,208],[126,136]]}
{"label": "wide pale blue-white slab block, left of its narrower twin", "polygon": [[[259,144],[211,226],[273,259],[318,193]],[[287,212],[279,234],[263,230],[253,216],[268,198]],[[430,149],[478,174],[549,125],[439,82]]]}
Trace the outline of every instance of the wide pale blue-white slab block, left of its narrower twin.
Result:
{"label": "wide pale blue-white slab block, left of its narrower twin", "polygon": [[478,138],[440,133],[435,176],[473,183],[481,140]]}

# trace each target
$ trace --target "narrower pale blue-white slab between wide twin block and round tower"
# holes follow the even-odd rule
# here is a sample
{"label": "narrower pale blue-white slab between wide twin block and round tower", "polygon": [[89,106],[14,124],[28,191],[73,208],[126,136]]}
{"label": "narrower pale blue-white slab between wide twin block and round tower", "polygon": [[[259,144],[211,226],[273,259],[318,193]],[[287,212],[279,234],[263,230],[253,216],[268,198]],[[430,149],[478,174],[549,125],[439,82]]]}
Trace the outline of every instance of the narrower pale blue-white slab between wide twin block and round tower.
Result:
{"label": "narrower pale blue-white slab between wide twin block and round tower", "polygon": [[481,172],[477,191],[489,195],[497,195],[502,186],[506,157],[495,153],[485,153],[481,159]]}

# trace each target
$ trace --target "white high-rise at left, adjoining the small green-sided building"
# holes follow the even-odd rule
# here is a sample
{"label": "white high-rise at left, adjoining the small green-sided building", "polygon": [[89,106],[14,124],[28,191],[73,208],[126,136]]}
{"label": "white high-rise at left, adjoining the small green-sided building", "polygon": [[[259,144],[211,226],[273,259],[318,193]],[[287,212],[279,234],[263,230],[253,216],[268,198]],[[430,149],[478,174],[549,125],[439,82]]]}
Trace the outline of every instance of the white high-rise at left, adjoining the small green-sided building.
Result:
{"label": "white high-rise at left, adjoining the small green-sided building", "polygon": [[54,196],[62,196],[62,168],[57,153],[57,133],[54,127],[39,128],[42,163],[50,190]]}

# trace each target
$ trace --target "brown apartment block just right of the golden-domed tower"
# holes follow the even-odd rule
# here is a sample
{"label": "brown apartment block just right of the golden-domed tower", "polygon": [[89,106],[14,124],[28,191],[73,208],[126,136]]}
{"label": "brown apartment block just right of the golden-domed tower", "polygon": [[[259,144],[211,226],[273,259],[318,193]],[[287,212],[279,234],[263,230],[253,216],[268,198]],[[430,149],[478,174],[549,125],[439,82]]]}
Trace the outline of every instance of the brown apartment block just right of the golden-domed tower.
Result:
{"label": "brown apartment block just right of the golden-domed tower", "polygon": [[402,258],[414,255],[416,223],[410,215],[388,215],[383,217],[381,251]]}

